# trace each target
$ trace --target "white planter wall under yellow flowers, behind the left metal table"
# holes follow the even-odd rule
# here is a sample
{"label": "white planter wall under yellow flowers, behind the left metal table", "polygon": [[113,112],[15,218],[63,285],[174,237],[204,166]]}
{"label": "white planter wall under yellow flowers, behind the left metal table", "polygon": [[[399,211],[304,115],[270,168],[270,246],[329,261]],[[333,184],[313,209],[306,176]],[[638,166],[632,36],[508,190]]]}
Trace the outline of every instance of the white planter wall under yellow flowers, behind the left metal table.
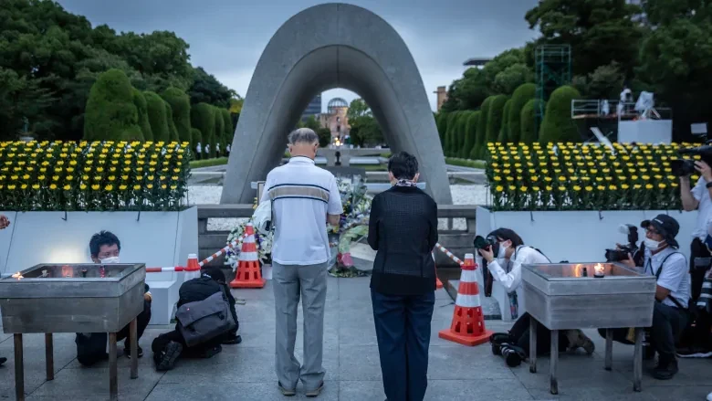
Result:
{"label": "white planter wall under yellow flowers, behind the left metal table", "polygon": [[[198,253],[197,207],[180,212],[4,212],[10,227],[0,230],[0,272],[39,263],[89,263],[89,238],[109,230],[121,242],[121,262],[146,267],[185,266]],[[66,218],[66,220],[65,220]],[[168,324],[178,288],[194,273],[149,273],[152,324]]]}

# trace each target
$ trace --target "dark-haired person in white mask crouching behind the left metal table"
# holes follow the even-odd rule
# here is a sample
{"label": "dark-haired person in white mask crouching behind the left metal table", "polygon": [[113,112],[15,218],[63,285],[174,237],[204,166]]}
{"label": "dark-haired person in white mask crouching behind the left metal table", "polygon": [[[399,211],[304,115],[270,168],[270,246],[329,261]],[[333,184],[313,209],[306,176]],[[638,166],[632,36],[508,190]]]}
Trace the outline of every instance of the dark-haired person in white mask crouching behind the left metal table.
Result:
{"label": "dark-haired person in white mask crouching behind the left metal table", "polygon": [[[121,243],[119,238],[109,231],[101,231],[94,234],[89,240],[89,252],[91,261],[100,264],[119,263],[119,255],[121,252]],[[148,284],[144,284],[145,290],[143,294],[143,311],[136,317],[138,338],[146,330],[146,326],[151,321],[151,292]],[[131,338],[129,338],[129,324],[124,326],[120,332],[116,333],[116,340],[124,342],[123,354],[127,358],[131,358]],[[75,339],[77,343],[77,360],[79,364],[90,366],[99,361],[109,359],[109,354],[106,352],[108,336],[106,332],[78,332]],[[138,339],[136,341],[138,343]],[[136,350],[139,358],[143,356],[143,350],[138,347]]]}

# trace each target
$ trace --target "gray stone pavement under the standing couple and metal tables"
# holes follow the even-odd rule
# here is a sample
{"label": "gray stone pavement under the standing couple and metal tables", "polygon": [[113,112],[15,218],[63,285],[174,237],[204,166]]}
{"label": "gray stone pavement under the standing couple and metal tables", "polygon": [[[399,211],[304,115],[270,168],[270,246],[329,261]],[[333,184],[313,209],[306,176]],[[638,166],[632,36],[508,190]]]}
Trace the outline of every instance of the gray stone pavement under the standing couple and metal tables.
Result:
{"label": "gray stone pavement under the standing couple and metal tables", "polygon": [[[274,301],[270,281],[263,290],[235,290],[243,343],[226,345],[223,353],[208,360],[183,360],[165,374],[156,373],[150,357],[152,339],[167,327],[150,327],[141,338],[146,355],[141,358],[136,380],[129,378],[129,360],[119,359],[120,400],[284,400],[274,374]],[[369,279],[329,281],[324,335],[326,387],[320,400],[382,401],[378,348],[373,329]],[[437,292],[427,400],[704,400],[712,391],[712,361],[682,361],[680,374],[669,382],[645,374],[643,393],[633,393],[633,347],[615,344],[613,372],[603,370],[603,341],[589,332],[597,352],[562,354],[560,396],[549,394],[547,358],[539,358],[539,374],[529,374],[526,364],[509,369],[487,344],[465,347],[445,342],[437,332],[452,319],[453,302],[444,290]],[[299,318],[301,320],[301,318]],[[487,321],[497,332],[508,325]],[[14,399],[12,336],[0,337],[0,355],[8,357],[0,367],[0,398]],[[301,324],[297,341],[301,353]],[[120,350],[123,345],[120,344]],[[75,359],[74,334],[55,335],[56,377],[45,381],[44,336],[25,336],[27,400],[97,401],[108,399],[108,365],[83,368]],[[301,388],[299,388],[301,390]],[[305,399],[298,395],[290,399]]]}

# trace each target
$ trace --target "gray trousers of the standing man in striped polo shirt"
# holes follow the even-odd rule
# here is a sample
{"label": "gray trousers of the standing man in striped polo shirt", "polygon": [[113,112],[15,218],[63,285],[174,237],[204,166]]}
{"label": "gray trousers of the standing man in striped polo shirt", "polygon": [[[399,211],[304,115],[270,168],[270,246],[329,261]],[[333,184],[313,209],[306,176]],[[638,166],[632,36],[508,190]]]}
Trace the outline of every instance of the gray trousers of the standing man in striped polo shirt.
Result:
{"label": "gray trousers of the standing man in striped polo shirt", "polygon": [[[277,380],[288,389],[301,379],[307,391],[324,380],[321,365],[324,344],[324,304],[326,303],[326,263],[295,266],[272,263],[272,288],[275,290],[275,368]],[[304,364],[294,355],[297,341],[299,295],[304,314]]]}

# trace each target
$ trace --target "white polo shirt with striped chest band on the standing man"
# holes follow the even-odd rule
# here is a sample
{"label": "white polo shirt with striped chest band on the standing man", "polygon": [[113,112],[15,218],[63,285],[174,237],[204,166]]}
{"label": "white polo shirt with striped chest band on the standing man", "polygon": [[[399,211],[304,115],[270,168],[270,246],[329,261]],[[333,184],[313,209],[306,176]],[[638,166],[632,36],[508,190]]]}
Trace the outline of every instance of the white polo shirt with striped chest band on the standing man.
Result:
{"label": "white polo shirt with striped chest band on the standing man", "polygon": [[260,202],[273,201],[272,260],[280,265],[318,265],[330,259],[327,215],[343,213],[336,178],[302,156],[267,174]]}

